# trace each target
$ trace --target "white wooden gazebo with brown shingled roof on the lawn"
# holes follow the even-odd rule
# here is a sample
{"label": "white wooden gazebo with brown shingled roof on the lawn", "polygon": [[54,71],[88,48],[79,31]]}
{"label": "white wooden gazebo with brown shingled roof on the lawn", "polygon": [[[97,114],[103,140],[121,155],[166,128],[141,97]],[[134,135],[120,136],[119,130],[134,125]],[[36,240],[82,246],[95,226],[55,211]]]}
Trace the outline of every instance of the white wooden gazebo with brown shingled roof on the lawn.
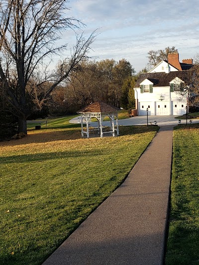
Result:
{"label": "white wooden gazebo with brown shingled roof on the lawn", "polygon": [[[119,135],[118,115],[117,115],[119,110],[120,110],[119,108],[110,106],[103,102],[95,102],[79,110],[77,113],[81,114],[82,137],[84,137],[84,134],[86,134],[87,138],[89,138],[89,132],[91,131],[89,123],[91,122],[92,117],[95,117],[98,120],[98,128],[94,128],[94,130],[96,130],[99,133],[100,137],[103,137],[104,134],[112,134],[112,136],[115,136],[115,131],[116,134]],[[104,132],[102,128],[102,121],[106,116],[110,118],[110,130]],[[116,118],[116,129],[114,124],[115,118]],[[84,131],[83,128],[84,120],[87,124],[86,131]]]}

